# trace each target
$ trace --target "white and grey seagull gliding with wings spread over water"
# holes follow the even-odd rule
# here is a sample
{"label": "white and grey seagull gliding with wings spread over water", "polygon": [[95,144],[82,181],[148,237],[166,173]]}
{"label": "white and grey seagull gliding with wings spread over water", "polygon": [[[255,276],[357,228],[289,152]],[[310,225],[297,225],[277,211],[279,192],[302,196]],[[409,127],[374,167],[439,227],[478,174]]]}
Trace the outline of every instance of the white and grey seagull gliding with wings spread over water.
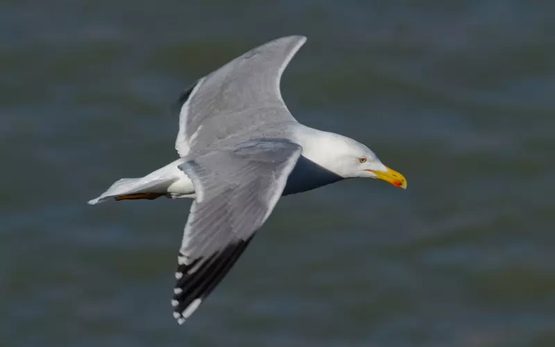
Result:
{"label": "white and grey seagull gliding with wings spread over water", "polygon": [[173,108],[180,158],[142,178],[121,178],[89,201],[194,199],[171,300],[179,324],[230,271],[280,196],[356,177],[407,188],[364,144],[293,118],[280,80],[306,40],[278,38],[198,79]]}

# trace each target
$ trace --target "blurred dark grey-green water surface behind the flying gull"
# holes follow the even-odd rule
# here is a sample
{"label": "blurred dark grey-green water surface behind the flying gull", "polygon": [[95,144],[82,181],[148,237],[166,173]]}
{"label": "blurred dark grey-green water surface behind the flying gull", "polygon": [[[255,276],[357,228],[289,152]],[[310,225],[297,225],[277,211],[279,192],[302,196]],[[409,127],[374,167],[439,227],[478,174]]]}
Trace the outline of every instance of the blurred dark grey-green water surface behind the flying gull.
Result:
{"label": "blurred dark grey-green water surface behind the flying gull", "polygon": [[[555,346],[555,2],[0,2],[0,346]],[[188,201],[86,204],[177,158],[182,88],[307,35],[291,112],[409,182],[282,199],[190,321]]]}

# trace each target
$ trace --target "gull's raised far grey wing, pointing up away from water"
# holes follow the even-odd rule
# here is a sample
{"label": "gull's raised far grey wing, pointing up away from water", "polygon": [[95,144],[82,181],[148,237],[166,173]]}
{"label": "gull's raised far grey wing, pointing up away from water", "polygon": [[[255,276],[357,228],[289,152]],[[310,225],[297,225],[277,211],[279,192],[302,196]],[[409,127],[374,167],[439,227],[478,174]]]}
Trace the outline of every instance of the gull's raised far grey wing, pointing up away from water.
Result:
{"label": "gull's raised far grey wing, pointing up away from water", "polygon": [[179,110],[176,150],[185,157],[206,146],[271,123],[295,121],[280,92],[285,67],[304,36],[282,37],[259,46],[200,78],[185,91]]}

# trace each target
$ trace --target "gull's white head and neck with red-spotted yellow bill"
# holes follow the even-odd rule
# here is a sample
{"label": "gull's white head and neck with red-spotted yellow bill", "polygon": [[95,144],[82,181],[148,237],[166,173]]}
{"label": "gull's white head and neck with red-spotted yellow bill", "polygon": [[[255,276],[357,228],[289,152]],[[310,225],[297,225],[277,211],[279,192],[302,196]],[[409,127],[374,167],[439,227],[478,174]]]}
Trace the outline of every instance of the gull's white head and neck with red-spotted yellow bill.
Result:
{"label": "gull's white head and neck with red-spotted yellow bill", "polygon": [[386,167],[373,151],[343,135],[307,128],[302,131],[302,155],[343,178],[379,178],[407,188],[402,174]]}

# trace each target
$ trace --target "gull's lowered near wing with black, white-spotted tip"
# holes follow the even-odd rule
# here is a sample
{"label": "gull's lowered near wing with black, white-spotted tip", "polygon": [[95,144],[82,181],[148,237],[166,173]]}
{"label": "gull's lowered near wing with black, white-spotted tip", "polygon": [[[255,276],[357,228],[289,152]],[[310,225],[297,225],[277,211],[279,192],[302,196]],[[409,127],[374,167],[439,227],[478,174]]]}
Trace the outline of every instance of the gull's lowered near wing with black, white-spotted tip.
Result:
{"label": "gull's lowered near wing with black, white-spotted tip", "polygon": [[185,322],[230,270],[280,198],[301,147],[286,139],[242,142],[181,165],[193,180],[172,305]]}

